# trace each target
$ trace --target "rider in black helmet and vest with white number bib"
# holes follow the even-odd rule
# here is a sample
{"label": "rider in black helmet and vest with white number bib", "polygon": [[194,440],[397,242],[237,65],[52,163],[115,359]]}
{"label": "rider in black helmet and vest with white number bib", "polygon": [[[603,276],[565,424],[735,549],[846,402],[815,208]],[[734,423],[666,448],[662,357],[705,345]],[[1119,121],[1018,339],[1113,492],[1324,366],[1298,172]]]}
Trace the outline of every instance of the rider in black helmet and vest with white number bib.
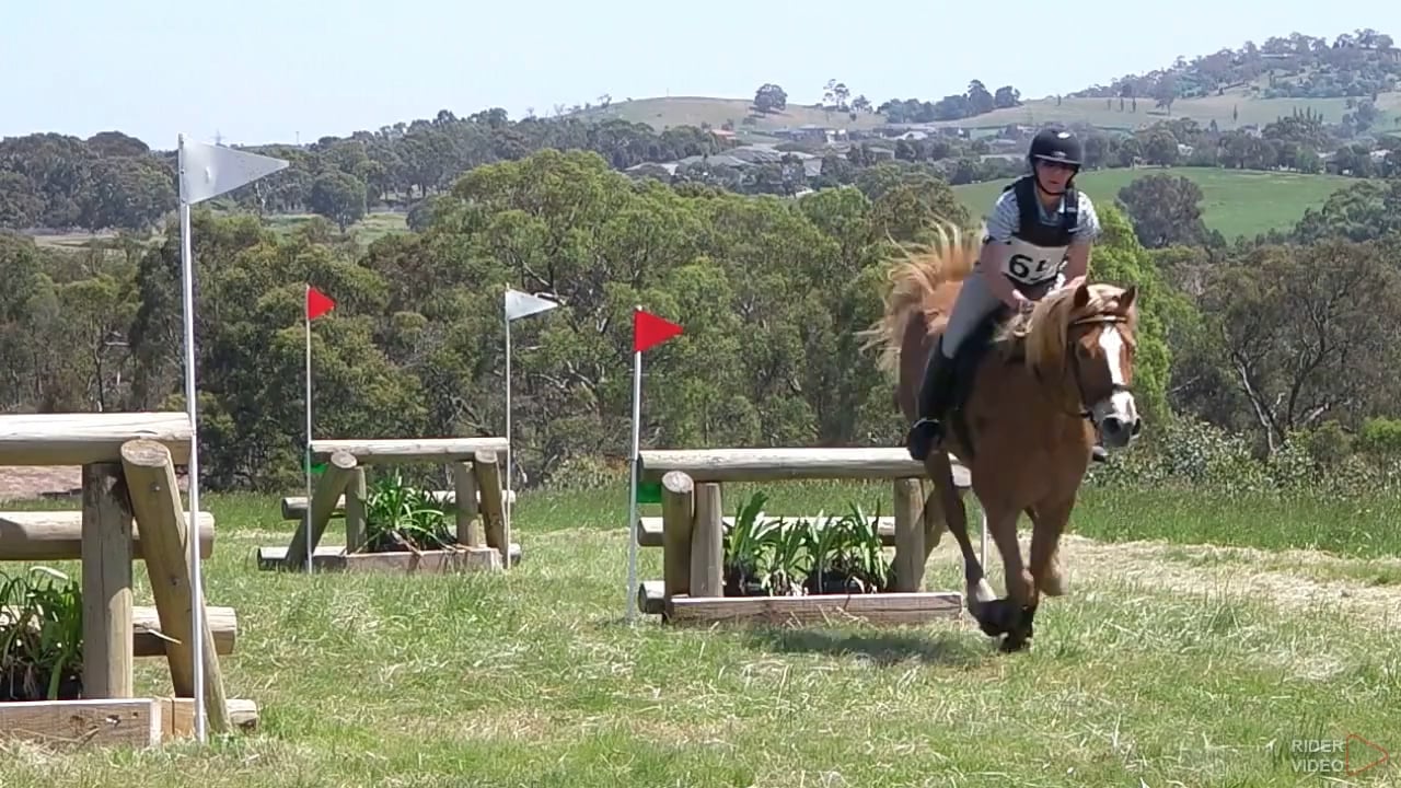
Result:
{"label": "rider in black helmet and vest with white number bib", "polygon": [[[1031,140],[1031,172],[1003,188],[992,206],[981,257],[964,279],[948,324],[930,353],[919,391],[919,421],[909,429],[909,456],[923,461],[943,440],[940,419],[953,395],[953,358],[960,342],[1006,304],[1030,311],[1056,285],[1079,287],[1090,265],[1100,220],[1090,196],[1073,186],[1084,147],[1069,130],[1042,129]],[[1096,442],[1094,458],[1104,460]]]}

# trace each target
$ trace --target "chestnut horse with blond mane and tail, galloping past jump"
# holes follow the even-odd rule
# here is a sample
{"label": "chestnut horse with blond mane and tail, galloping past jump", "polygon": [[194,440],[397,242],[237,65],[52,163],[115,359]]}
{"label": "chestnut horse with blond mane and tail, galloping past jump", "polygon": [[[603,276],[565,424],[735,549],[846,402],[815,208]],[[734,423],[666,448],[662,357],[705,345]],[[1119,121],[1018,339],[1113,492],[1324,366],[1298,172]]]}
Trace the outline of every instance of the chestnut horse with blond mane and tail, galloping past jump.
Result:
{"label": "chestnut horse with blond mane and tail, galloping past jump", "polygon": [[[866,349],[880,348],[877,366],[897,379],[894,402],[906,426],[918,418],[925,363],[937,348],[954,297],[972,271],[981,237],[937,229],[940,244],[890,271],[884,314]],[[1030,646],[1041,596],[1062,596],[1058,548],[1089,470],[1098,432],[1108,451],[1142,430],[1133,401],[1138,289],[1082,283],[1045,294],[1030,313],[989,315],[954,359],[955,395],[944,415],[943,446],[925,460],[934,489],[925,499],[925,559],[939,543],[929,529],[937,505],[964,558],[968,613],[1000,651]],[[972,475],[972,492],[1002,554],[1007,596],[995,599],[968,540],[968,515],[953,481],[950,454]],[[936,502],[936,496],[939,501]],[[1023,562],[1017,522],[1033,523],[1030,561]]]}

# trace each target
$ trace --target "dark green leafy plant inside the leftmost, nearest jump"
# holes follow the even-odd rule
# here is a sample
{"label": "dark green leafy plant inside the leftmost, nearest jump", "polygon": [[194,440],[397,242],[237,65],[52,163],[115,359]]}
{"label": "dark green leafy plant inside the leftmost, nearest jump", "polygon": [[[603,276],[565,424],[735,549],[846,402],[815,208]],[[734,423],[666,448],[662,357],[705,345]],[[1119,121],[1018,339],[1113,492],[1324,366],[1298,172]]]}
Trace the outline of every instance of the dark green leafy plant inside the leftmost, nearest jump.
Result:
{"label": "dark green leafy plant inside the leftmost, nearest jump", "polygon": [[0,572],[0,701],[67,700],[83,688],[83,592],[67,575]]}

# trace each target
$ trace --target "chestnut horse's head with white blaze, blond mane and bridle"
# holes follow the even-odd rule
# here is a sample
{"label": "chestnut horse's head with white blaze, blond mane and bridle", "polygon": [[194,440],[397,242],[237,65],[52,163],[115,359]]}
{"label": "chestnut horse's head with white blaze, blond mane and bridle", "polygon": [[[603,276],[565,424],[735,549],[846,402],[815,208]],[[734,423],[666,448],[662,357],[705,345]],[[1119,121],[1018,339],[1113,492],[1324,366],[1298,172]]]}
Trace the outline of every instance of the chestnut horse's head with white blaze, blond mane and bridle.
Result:
{"label": "chestnut horse's head with white blaze, blond mane and bridle", "polygon": [[[1133,401],[1138,287],[1080,285],[1037,303],[1023,325],[1026,362],[1042,380],[1069,376],[1105,449],[1122,449],[1143,422]],[[1020,322],[1020,321],[1019,321]]]}

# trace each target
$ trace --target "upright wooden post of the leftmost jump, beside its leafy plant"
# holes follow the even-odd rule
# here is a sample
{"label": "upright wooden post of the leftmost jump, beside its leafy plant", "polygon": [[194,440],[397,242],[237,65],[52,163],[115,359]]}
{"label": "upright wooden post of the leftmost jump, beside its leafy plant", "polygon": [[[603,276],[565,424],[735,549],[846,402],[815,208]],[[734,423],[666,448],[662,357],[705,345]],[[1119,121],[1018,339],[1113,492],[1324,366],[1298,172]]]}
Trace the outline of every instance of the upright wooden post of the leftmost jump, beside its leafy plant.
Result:
{"label": "upright wooden post of the leftmost jump, beside its leafy plant", "polygon": [[116,463],[83,466],[83,695],[136,694],[132,513]]}

